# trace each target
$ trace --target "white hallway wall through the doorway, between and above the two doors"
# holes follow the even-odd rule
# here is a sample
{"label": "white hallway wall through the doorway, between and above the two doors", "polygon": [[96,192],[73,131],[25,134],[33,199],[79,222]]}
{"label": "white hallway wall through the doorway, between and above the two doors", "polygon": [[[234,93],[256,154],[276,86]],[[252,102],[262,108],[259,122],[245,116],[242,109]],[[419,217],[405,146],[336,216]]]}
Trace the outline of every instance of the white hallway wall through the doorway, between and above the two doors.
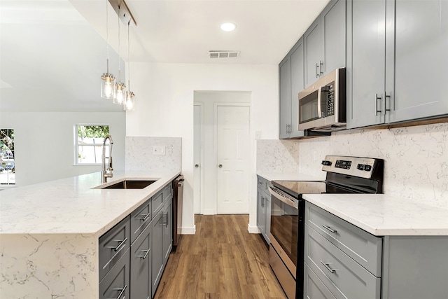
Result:
{"label": "white hallway wall through the doorway, between and above the two doors", "polygon": [[[195,202],[195,214],[216,214],[217,184],[216,184],[216,149],[215,149],[215,104],[218,103],[251,103],[251,92],[206,92],[197,91],[194,95],[195,103],[202,103],[204,109],[203,127],[204,140],[202,142],[202,155],[204,165],[202,182],[207,188],[203,188],[202,204]],[[197,178],[195,178],[197,179]]]}

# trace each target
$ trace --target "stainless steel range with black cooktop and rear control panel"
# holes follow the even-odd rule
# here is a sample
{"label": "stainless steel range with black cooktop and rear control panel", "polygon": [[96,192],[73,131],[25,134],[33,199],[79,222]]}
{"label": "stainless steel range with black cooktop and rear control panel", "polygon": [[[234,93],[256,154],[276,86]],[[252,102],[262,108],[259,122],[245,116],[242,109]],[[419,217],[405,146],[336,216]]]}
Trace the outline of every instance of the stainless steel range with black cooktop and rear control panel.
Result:
{"label": "stainless steel range with black cooktop and rear control panel", "polygon": [[272,181],[269,265],[289,299],[303,295],[302,194],[382,193],[384,160],[327,155],[325,181]]}

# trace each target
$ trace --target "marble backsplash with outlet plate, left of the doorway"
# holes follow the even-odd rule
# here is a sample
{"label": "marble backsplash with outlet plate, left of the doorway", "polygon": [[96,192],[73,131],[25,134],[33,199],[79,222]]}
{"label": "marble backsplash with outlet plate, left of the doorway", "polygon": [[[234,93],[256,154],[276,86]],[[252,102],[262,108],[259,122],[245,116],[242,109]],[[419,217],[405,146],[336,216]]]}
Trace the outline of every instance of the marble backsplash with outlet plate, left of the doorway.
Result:
{"label": "marble backsplash with outlet plate, left of the doorway", "polygon": [[[165,146],[165,155],[154,155],[154,146]],[[126,172],[142,170],[158,174],[181,171],[182,139],[180,137],[126,137]]]}

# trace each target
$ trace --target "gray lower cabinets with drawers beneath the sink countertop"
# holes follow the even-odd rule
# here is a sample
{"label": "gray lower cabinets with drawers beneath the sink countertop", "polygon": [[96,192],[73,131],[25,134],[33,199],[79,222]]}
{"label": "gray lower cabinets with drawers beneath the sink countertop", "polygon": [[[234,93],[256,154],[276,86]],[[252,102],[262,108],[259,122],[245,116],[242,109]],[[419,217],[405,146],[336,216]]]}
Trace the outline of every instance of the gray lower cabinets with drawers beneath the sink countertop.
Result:
{"label": "gray lower cabinets with drawers beneath the sink countertop", "polygon": [[172,182],[99,238],[99,298],[148,299],[172,249]]}

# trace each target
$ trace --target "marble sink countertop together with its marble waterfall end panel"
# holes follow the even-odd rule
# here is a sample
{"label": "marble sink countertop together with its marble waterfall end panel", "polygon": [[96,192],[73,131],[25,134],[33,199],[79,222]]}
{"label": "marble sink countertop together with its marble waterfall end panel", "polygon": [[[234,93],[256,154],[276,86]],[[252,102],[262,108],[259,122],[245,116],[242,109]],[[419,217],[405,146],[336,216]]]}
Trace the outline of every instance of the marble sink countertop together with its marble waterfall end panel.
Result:
{"label": "marble sink countertop together with its marble waterfall end panel", "polygon": [[99,172],[0,192],[0,298],[99,298],[99,237],[179,175],[143,189],[97,189]]}

